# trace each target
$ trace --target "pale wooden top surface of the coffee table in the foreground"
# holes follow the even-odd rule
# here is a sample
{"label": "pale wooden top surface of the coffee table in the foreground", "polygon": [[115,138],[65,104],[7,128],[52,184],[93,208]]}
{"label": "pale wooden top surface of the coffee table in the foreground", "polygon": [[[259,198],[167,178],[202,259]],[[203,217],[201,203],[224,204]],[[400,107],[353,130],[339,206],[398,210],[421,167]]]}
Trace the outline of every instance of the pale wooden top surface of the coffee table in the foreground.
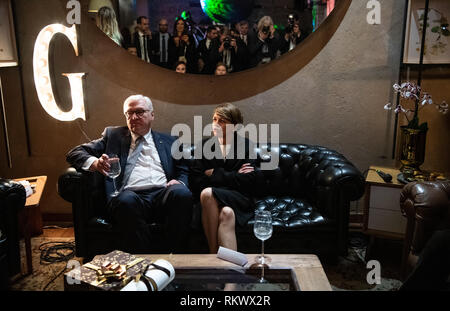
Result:
{"label": "pale wooden top surface of the coffee table in the foreground", "polygon": [[[177,268],[237,268],[238,265],[219,259],[215,254],[136,255],[150,260],[165,259]],[[247,254],[249,268],[256,254]],[[316,255],[267,254],[270,268],[291,268],[302,291],[331,291],[331,285]]]}

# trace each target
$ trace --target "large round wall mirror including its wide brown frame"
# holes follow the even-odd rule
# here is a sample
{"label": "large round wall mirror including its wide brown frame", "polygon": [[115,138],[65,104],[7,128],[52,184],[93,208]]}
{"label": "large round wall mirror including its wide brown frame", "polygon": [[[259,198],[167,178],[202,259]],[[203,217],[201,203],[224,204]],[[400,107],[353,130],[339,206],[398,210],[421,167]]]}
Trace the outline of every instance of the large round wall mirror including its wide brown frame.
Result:
{"label": "large round wall mirror including its wide brown frame", "polygon": [[[86,61],[115,83],[155,99],[195,105],[236,101],[278,85],[305,66],[333,36],[350,3],[90,0],[89,15],[97,27],[88,27],[89,45],[95,44]],[[111,8],[106,14],[100,12],[105,6]],[[109,25],[111,20],[116,26]],[[105,43],[107,37],[92,28],[116,43]],[[102,69],[106,63],[115,66]]]}

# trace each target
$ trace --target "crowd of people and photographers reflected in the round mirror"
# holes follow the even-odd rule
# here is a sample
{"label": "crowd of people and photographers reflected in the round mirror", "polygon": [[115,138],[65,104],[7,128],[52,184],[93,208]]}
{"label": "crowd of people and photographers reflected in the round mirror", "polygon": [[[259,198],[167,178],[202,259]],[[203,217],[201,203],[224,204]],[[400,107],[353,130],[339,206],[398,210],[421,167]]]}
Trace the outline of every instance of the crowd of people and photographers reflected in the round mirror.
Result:
{"label": "crowd of people and photographers reflected in the round mirror", "polygon": [[298,14],[286,17],[283,27],[274,25],[268,15],[257,23],[242,20],[233,24],[195,25],[178,16],[172,31],[167,17],[159,19],[155,31],[147,16],[119,31],[110,7],[98,10],[97,26],[114,42],[144,62],[177,73],[224,75],[269,63],[293,50],[308,35],[301,29]]}

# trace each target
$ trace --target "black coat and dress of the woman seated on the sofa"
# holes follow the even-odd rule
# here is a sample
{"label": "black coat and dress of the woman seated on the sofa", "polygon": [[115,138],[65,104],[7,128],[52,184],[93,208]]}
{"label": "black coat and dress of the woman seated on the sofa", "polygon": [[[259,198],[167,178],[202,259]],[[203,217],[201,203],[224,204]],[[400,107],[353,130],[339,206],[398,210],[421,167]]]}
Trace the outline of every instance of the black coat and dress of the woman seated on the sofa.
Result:
{"label": "black coat and dress of the woman seated on the sofa", "polygon": [[[194,161],[189,174],[189,185],[196,201],[200,201],[200,193],[203,189],[211,187],[219,207],[231,207],[236,216],[236,222],[240,226],[244,226],[254,213],[253,193],[260,178],[260,171],[255,168],[255,171],[251,173],[238,173],[244,163],[250,163],[251,166],[255,167],[256,159],[254,159],[254,156],[250,156],[250,151],[253,150],[250,148],[253,148],[253,144],[236,133],[234,137],[234,142],[237,141],[238,144],[234,143],[231,145],[225,159],[221,155],[219,148],[214,158],[207,159],[203,154],[202,159]],[[217,138],[211,137],[204,141],[203,144],[198,145],[197,148],[202,148],[203,150],[203,146],[207,142],[212,143],[214,140],[217,142],[214,146],[219,146]],[[216,150],[214,146],[209,148],[213,152]],[[244,150],[239,149],[240,147],[245,148],[245,154],[239,159],[239,150]],[[211,168],[214,169],[212,175],[205,175],[205,171]]]}

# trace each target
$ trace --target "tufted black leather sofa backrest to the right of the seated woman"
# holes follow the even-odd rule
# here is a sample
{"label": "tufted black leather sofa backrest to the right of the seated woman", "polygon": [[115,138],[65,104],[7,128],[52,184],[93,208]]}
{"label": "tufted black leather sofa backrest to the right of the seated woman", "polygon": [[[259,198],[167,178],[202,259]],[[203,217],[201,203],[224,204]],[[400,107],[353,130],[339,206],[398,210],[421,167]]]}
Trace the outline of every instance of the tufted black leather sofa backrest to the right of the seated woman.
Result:
{"label": "tufted black leather sofa backrest to the right of the seated woman", "polygon": [[[194,161],[195,146],[187,152],[191,157],[187,160],[188,166]],[[330,209],[333,202],[329,196],[329,188],[336,183],[348,185],[361,185],[363,182],[347,183],[349,176],[362,178],[359,170],[337,151],[322,146],[281,143],[258,145],[254,148],[257,156],[257,166],[263,162],[270,162],[271,156],[279,156],[278,167],[273,170],[261,170],[258,180],[256,197],[288,196],[307,199],[314,205],[322,206],[321,212],[333,217],[334,210]],[[341,178],[341,176],[345,176]],[[341,187],[342,188],[342,187]],[[345,189],[349,200],[360,197],[361,187]],[[321,192],[326,192],[322,196]],[[334,198],[333,198],[334,199]],[[321,202],[323,201],[323,202]]]}

